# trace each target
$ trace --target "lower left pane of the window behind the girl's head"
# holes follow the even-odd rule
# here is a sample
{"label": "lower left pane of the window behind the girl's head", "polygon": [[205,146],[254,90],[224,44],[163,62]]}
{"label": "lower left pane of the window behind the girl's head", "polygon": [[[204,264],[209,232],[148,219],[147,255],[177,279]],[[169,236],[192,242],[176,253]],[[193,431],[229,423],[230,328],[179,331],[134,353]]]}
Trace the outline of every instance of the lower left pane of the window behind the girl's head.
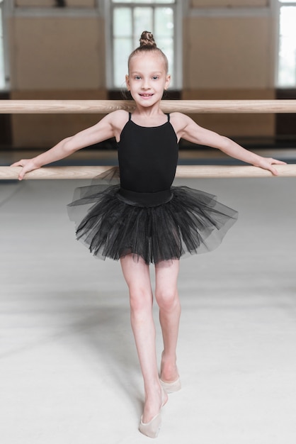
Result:
{"label": "lower left pane of the window behind the girl's head", "polygon": [[125,74],[127,74],[127,59],[132,52],[131,38],[115,38],[113,51],[113,78],[116,88],[125,86]]}

